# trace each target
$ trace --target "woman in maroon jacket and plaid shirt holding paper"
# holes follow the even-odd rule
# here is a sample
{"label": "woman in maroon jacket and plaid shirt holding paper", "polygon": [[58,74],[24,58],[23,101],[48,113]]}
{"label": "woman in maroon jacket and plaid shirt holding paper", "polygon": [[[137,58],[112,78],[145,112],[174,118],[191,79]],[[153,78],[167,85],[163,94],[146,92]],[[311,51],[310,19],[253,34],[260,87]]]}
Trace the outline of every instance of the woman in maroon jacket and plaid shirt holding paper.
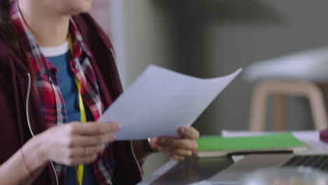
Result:
{"label": "woman in maroon jacket and plaid shirt holding paper", "polygon": [[115,142],[119,123],[93,122],[122,88],[109,39],[84,13],[91,3],[1,0],[0,184],[136,184],[149,153],[196,149],[191,127]]}

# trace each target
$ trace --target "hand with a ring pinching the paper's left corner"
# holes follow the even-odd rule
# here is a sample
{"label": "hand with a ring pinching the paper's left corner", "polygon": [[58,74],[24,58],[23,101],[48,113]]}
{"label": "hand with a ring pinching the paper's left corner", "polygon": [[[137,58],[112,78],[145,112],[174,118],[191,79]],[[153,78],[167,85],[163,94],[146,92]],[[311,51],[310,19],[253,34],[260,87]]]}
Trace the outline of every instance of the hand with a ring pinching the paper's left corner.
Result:
{"label": "hand with a ring pinching the paper's left corner", "polygon": [[[118,123],[65,123],[37,135],[41,153],[46,160],[74,166],[92,163],[102,151],[102,144],[114,142]],[[35,139],[36,139],[35,138]]]}

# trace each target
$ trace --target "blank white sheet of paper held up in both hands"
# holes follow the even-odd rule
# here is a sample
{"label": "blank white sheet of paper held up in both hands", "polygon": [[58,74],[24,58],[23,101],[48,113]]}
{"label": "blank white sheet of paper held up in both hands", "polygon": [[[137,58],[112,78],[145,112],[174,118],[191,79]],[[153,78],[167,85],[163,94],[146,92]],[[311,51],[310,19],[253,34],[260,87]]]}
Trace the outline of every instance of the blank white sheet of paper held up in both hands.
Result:
{"label": "blank white sheet of paper held up in both hands", "polygon": [[116,140],[177,137],[177,130],[191,125],[240,71],[203,79],[150,65],[98,121],[121,123]]}

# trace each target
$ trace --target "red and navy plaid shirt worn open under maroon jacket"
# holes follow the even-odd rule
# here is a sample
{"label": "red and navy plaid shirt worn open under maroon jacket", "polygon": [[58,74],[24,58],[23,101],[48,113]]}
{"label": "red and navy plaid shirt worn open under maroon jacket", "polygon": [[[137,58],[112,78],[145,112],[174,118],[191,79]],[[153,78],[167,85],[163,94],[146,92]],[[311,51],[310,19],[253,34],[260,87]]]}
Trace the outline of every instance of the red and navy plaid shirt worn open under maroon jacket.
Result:
{"label": "red and navy plaid shirt worn open under maroon jacket", "polygon": [[[39,96],[39,104],[45,118],[47,128],[67,122],[67,111],[64,98],[57,83],[57,68],[51,64],[41,52],[38,44],[22,18],[18,8],[18,3],[13,4],[11,9],[11,19],[21,36],[20,40],[25,46],[25,51],[29,62],[32,65],[34,76],[36,77],[36,94]],[[78,28],[71,19],[69,23],[69,33],[72,39],[72,60],[70,69],[73,71],[78,81],[81,83],[81,95],[83,102],[90,109],[93,118],[97,120],[104,111],[104,105],[100,100],[100,92],[95,78],[90,60],[94,60],[92,53],[83,42]],[[93,170],[99,184],[111,184],[111,177],[114,173],[114,158],[112,146],[109,144],[93,163]],[[55,165],[56,172],[60,179],[60,184],[64,184],[66,167]]]}

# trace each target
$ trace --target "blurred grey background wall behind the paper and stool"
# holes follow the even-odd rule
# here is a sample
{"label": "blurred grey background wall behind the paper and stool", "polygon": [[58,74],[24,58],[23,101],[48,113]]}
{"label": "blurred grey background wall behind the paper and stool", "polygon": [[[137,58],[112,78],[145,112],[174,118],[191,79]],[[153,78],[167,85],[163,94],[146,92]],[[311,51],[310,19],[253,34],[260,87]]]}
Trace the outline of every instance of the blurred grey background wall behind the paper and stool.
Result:
{"label": "blurred grey background wall behind the paper and stool", "polygon": [[[328,1],[324,0],[94,3],[102,4],[94,4],[91,13],[111,36],[125,88],[148,64],[210,78],[270,57],[328,46]],[[239,76],[194,126],[201,134],[247,129],[252,88]],[[289,97],[288,115],[289,129],[313,128],[306,100]],[[269,125],[270,120],[268,129]],[[150,156],[145,176],[165,160],[160,154]]]}

